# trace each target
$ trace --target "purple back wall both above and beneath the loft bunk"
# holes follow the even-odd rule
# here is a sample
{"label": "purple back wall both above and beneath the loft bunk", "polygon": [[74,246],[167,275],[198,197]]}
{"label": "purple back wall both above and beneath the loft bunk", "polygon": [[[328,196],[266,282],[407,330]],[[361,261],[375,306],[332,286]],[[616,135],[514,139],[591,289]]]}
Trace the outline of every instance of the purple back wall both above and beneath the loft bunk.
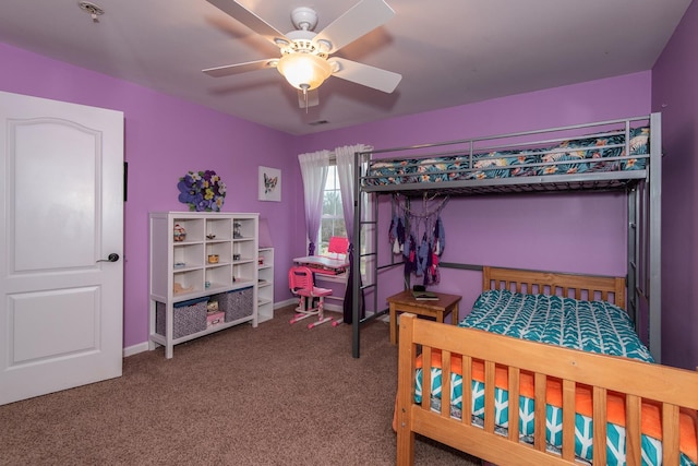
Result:
{"label": "purple back wall both above and beneath the loft bunk", "polygon": [[[650,112],[650,72],[515,95],[438,111],[302,136],[306,150],[364,143],[376,148],[553,128]],[[386,199],[387,196],[383,196]],[[385,203],[387,204],[387,202]],[[380,238],[387,246],[389,206],[382,206]],[[626,274],[626,198],[618,194],[516,195],[452,199],[443,212],[442,261]],[[571,246],[570,246],[571,244]],[[387,262],[388,253],[380,255]],[[378,307],[401,286],[399,271],[384,273]],[[481,274],[442,270],[435,287],[460,294],[460,315],[481,289]]]}

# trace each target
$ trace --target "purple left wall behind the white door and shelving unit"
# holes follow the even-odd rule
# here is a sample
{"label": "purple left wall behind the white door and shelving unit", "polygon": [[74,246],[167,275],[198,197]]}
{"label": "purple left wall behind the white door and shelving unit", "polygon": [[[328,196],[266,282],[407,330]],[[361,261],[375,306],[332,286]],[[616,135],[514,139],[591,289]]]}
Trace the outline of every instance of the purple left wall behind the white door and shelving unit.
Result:
{"label": "purple left wall behind the white door and shelving unit", "polygon": [[[148,336],[148,212],[186,210],[177,199],[177,181],[186,171],[213,169],[221,176],[228,186],[225,212],[260,212],[268,218],[279,258],[291,256],[302,243],[303,236],[288,228],[298,217],[302,193],[296,186],[296,152],[289,148],[292,136],[2,44],[0,62],[2,91],[124,112],[124,347]],[[258,165],[281,169],[282,202],[257,201]],[[286,271],[275,272],[275,291],[282,300]]]}

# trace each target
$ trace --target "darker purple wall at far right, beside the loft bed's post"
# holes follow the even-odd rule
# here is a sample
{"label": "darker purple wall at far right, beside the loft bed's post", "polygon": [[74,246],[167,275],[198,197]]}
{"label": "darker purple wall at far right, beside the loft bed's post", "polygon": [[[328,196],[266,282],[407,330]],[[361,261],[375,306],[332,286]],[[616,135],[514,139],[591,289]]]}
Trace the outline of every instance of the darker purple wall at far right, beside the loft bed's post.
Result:
{"label": "darker purple wall at far right, beside the loft bed's post", "polygon": [[698,366],[698,3],[693,2],[652,69],[662,112],[662,354]]}

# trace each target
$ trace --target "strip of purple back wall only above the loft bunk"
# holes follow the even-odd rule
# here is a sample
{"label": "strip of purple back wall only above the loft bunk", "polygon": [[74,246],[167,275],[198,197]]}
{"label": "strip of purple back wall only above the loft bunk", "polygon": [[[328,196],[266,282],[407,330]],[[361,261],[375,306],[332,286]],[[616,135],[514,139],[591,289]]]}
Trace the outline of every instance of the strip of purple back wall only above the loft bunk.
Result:
{"label": "strip of purple back wall only above the loft bunk", "polygon": [[650,111],[650,85],[645,71],[310,134],[301,146],[387,148],[635,117]]}

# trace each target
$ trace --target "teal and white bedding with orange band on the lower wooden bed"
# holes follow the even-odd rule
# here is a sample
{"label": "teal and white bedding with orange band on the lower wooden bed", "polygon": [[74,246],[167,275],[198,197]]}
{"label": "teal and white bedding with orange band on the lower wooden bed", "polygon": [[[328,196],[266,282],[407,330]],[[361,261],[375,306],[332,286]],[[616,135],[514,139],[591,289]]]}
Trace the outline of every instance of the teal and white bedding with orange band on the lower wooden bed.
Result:
{"label": "teal and white bedding with orange band on the lower wooden bed", "polygon": [[[622,309],[604,301],[579,301],[545,295],[522,295],[506,290],[483,292],[476,301],[473,311],[460,323],[503,335],[529,340],[559,345],[587,351],[623,356],[652,362],[652,357],[633,330],[628,315]],[[462,409],[461,360],[454,355],[452,359],[450,413],[460,418]],[[416,374],[416,402],[422,398],[422,361],[418,360]],[[484,416],[484,370],[482,362],[474,361],[472,368],[472,422],[482,425]],[[432,409],[441,409],[441,354],[432,355]],[[519,437],[524,442],[533,442],[533,379],[522,373],[519,396]],[[502,433],[508,426],[507,372],[505,368],[496,370],[495,426]],[[546,394],[546,441],[549,449],[562,447],[562,385],[559,381],[549,380]],[[593,458],[591,419],[591,392],[578,387],[576,396],[577,415],[575,417],[575,452],[579,459],[591,462]],[[661,413],[657,405],[642,405],[642,464],[662,463]],[[609,393],[607,397],[607,441],[609,465],[625,464],[625,403],[622,395]],[[698,464],[696,444],[698,419],[696,413],[681,413],[681,465]]]}

